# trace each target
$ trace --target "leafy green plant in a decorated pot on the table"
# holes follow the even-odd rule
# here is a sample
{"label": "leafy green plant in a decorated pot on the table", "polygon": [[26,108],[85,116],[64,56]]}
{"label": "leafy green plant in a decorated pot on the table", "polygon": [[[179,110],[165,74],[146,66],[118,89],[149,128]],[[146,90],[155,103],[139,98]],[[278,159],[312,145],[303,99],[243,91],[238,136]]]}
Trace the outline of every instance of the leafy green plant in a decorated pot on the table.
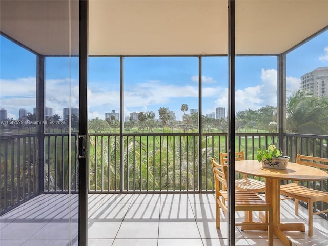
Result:
{"label": "leafy green plant in a decorated pot on the table", "polygon": [[276,145],[271,144],[268,149],[257,149],[257,160],[262,163],[262,167],[286,169],[290,157],[282,155]]}

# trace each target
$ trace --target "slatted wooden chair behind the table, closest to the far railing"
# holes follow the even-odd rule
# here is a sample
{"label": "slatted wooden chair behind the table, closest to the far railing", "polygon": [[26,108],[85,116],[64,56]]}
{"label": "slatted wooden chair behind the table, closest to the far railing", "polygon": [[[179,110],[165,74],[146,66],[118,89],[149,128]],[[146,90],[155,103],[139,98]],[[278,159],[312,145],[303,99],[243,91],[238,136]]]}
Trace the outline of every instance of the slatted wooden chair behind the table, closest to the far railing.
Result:
{"label": "slatted wooden chair behind the table, closest to the far railing", "polygon": [[[244,160],[244,152],[235,152],[235,160]],[[220,164],[224,165],[228,163],[228,153],[220,153]],[[253,191],[255,193],[265,191],[265,183],[253,178],[248,178],[246,174],[243,174],[241,179],[235,181],[236,190],[238,191]]]}

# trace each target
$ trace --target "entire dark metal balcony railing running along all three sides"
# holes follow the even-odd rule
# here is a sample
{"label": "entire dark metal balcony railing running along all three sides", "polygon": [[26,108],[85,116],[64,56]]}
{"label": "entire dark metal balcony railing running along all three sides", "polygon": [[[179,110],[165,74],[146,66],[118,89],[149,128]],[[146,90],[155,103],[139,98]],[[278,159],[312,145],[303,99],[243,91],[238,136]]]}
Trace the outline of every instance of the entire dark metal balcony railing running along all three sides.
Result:
{"label": "entire dark metal balcony railing running along all three sides", "polygon": [[[257,148],[265,148],[277,138],[277,133],[236,133],[236,150],[243,150],[247,159],[255,159]],[[38,193],[67,192],[69,186],[72,192],[78,192],[75,140],[72,135],[69,166],[67,133],[44,134],[44,155],[38,153],[36,134],[1,136],[0,212]],[[328,136],[285,134],[284,153],[291,161],[297,153],[327,158],[327,140]],[[210,159],[218,159],[220,152],[227,151],[227,134],[125,133],[120,139],[119,134],[93,133],[88,134],[88,145],[90,193],[213,192]],[[40,169],[39,163],[44,168]],[[327,191],[326,180],[304,185]],[[326,205],[316,204],[317,208]]]}

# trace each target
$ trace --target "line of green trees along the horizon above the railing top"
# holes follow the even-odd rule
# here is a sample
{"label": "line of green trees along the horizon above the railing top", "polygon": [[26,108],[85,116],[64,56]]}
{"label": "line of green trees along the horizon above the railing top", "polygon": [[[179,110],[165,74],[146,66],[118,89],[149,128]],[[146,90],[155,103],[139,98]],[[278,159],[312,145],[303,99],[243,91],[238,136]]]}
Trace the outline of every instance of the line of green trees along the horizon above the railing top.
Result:
{"label": "line of green trees along the horizon above the railing top", "polygon": [[[124,122],[124,130],[127,132],[197,132],[199,128],[198,113],[186,114],[187,104],[181,104],[183,112],[182,120],[174,120],[168,108],[160,107],[158,110],[159,119],[155,119],[153,111],[139,112],[137,119],[130,117]],[[277,132],[277,112],[275,106],[264,106],[260,109],[247,109],[236,112],[235,127],[236,132]],[[68,119],[61,119],[55,114],[46,116],[46,132],[61,132],[68,130]],[[12,122],[13,119],[2,121],[2,134],[7,132],[21,133],[24,129],[29,132],[36,128],[35,114],[27,113],[21,122],[24,124],[4,124]],[[328,135],[328,99],[326,96],[317,97],[310,91],[294,91],[286,102],[286,132]],[[201,115],[202,132],[227,132],[227,118],[214,119]],[[115,116],[105,120],[98,117],[88,121],[89,132],[119,132],[120,123]],[[78,128],[78,116],[71,115],[71,129]],[[33,130],[34,132],[35,130]]]}

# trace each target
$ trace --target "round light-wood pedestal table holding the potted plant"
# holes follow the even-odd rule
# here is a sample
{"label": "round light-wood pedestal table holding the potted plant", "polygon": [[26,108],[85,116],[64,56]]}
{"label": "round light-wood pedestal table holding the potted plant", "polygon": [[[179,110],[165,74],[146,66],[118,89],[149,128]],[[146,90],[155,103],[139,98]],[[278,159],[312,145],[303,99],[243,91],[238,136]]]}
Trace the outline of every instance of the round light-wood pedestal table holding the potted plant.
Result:
{"label": "round light-wood pedestal table holding the potted plant", "polygon": [[[304,223],[280,222],[280,180],[318,181],[328,179],[325,171],[318,168],[288,162],[286,169],[263,168],[258,160],[241,160],[235,162],[236,172],[266,178],[265,199],[272,204],[274,234],[284,243],[292,245],[291,240],[282,231],[305,232]],[[251,230],[245,226],[245,230]],[[263,228],[265,230],[265,228]]]}

